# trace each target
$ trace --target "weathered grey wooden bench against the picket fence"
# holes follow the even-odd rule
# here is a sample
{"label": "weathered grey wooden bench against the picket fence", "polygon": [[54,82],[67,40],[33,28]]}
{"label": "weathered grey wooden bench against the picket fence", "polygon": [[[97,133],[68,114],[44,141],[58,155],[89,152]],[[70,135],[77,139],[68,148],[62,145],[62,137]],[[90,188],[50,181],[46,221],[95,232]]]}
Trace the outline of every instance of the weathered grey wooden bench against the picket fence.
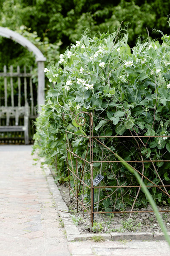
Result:
{"label": "weathered grey wooden bench against the picket fence", "polygon": [[[19,118],[23,118],[23,125],[19,125]],[[0,107],[0,119],[6,119],[6,125],[0,125],[0,132],[24,132],[25,144],[29,144],[28,138],[28,118],[29,118],[29,107],[26,103],[23,107]],[[15,120],[15,124],[11,125],[10,119]]]}

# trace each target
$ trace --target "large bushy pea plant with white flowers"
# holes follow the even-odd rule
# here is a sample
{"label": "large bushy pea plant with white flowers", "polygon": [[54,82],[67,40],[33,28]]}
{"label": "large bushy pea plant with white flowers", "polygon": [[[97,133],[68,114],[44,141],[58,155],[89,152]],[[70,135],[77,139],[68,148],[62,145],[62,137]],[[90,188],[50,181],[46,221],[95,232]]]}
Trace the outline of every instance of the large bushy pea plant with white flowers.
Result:
{"label": "large bushy pea plant with white flowers", "polygon": [[[105,176],[102,184],[137,183],[121,163],[106,163],[116,159],[111,154],[116,152],[126,161],[137,161],[133,167],[147,177],[142,177],[145,185],[161,186],[159,190],[150,187],[149,191],[157,204],[166,205],[170,203],[170,36],[160,32],[161,42],[139,39],[130,49],[127,31],[122,36],[120,30],[94,38],[85,32],[56,64],[45,68],[49,89],[36,121],[33,151],[38,149],[39,156],[54,170],[56,180],[67,181],[65,130],[77,135],[69,135],[72,151],[85,155],[87,139],[79,135],[89,134],[89,116],[84,115],[87,122],[82,126],[75,117],[79,112],[91,112],[94,136],[106,146],[94,143],[94,160],[105,160],[102,165],[94,163],[95,173]],[[81,161],[78,164],[82,167]],[[85,178],[89,183],[89,172]],[[147,198],[139,191],[102,189],[95,200],[105,211],[133,207],[135,203],[146,207]],[[89,197],[87,194],[87,201]]]}

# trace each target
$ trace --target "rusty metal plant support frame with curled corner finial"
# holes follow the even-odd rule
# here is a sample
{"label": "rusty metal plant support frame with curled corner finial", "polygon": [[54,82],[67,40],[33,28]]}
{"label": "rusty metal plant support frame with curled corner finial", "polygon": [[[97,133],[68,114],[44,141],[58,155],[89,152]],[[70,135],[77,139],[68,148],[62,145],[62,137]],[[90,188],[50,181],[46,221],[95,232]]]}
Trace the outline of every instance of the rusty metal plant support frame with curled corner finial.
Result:
{"label": "rusty metal plant support frame with curled corner finial", "polygon": [[[65,131],[66,133],[66,138],[67,138],[67,155],[68,155],[68,179],[69,179],[69,189],[70,191],[73,193],[74,197],[77,199],[77,212],[78,212],[78,202],[79,204],[81,204],[83,211],[86,210],[88,212],[88,214],[90,215],[91,218],[91,232],[92,232],[92,227],[93,227],[93,222],[94,222],[94,214],[106,214],[106,213],[134,213],[134,212],[153,212],[153,211],[138,211],[138,210],[131,210],[131,211],[112,211],[112,212],[99,212],[99,211],[94,211],[94,189],[107,189],[107,188],[115,188],[115,189],[119,189],[119,188],[141,188],[141,186],[94,186],[93,184],[93,180],[94,180],[94,163],[121,163],[121,161],[119,160],[102,160],[102,161],[94,161],[94,141],[99,143],[100,145],[102,145],[102,147],[107,148],[108,151],[110,151],[113,155],[115,155],[115,153],[108,148],[104,143],[102,143],[99,139],[100,138],[142,138],[142,137],[164,137],[164,136],[93,136],[93,114],[92,113],[88,113],[88,112],[80,112],[77,114],[75,121],[77,122],[77,125],[85,125],[86,121],[85,121],[85,117],[84,116],[79,116],[80,114],[85,114],[89,116],[89,136],[86,135],[77,135],[74,134],[70,131]],[[77,121],[78,119],[78,121]],[[78,154],[76,154],[75,152],[73,152],[72,148],[71,148],[71,143],[70,143],[70,139],[68,138],[68,134],[71,134],[72,136],[74,136],[75,140],[77,137],[81,137],[84,139],[88,139],[88,145],[87,145],[87,151],[85,154],[85,157],[80,157]],[[166,137],[170,137],[170,136],[166,136]],[[88,157],[90,155],[90,157]],[[73,163],[73,159],[76,158],[76,165],[74,166]],[[90,161],[88,160],[90,158]],[[83,165],[81,167],[78,167],[78,163],[79,160],[83,161]],[[125,161],[127,163],[144,163],[144,162],[170,162],[170,160],[127,160]],[[87,164],[89,166],[88,172],[90,173],[90,184],[87,184],[84,180],[84,175],[85,175],[85,164]],[[161,192],[164,192],[165,195],[167,195],[170,198],[169,193],[167,192],[166,188],[170,188],[170,185],[156,185],[152,180],[150,180],[148,177],[144,176],[141,172],[139,172],[137,169],[135,169],[133,166],[131,166],[136,172],[138,172],[143,178],[145,178],[146,180],[148,180],[152,185],[147,185],[147,187],[156,187],[159,188],[161,190]],[[76,169],[76,171],[75,171]],[[78,172],[79,169],[79,172]],[[80,173],[80,175],[79,175]],[[74,180],[74,189],[71,186],[70,183],[70,175],[73,176],[73,180]],[[79,198],[79,192],[80,192],[80,188],[81,185],[83,186],[83,194],[82,194],[82,199]],[[85,206],[84,205],[84,189],[87,188],[90,190],[90,195],[91,195],[91,204],[90,206]],[[76,192],[74,192],[76,191]],[[114,191],[116,192],[116,190]],[[114,193],[113,192],[113,193]],[[109,197],[109,196],[108,196]],[[106,197],[106,198],[108,198]],[[106,198],[103,198],[101,201],[105,200]],[[90,209],[89,209],[90,208]],[[170,212],[170,210],[161,210],[160,212]]]}

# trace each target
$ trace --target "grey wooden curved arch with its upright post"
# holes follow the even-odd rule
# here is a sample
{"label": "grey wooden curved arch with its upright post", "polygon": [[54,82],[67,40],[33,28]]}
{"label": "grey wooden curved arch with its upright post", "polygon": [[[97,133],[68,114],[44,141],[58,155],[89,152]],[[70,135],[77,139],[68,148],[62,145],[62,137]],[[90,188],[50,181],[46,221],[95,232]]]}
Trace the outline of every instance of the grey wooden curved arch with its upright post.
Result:
{"label": "grey wooden curved arch with its upright post", "polygon": [[36,56],[37,66],[38,66],[38,91],[37,91],[37,102],[38,102],[38,111],[41,111],[41,105],[44,104],[45,100],[45,75],[44,75],[44,61],[46,58],[42,52],[32,44],[28,39],[24,38],[22,35],[0,26],[0,36],[9,38],[13,41],[16,41],[18,44],[22,45],[28,51],[33,52]]}

